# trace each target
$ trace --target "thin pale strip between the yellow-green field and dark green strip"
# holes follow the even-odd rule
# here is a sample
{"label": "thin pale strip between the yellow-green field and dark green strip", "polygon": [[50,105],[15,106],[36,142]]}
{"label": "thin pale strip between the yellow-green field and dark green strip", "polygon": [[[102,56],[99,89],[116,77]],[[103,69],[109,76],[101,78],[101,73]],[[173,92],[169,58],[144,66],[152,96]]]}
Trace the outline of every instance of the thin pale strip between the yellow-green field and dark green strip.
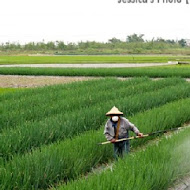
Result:
{"label": "thin pale strip between the yellow-green field and dark green strip", "polygon": [[152,67],[164,65],[176,65],[177,62],[168,63],[99,63],[99,64],[15,64],[0,65],[0,67],[38,67],[38,68],[126,68],[126,67]]}

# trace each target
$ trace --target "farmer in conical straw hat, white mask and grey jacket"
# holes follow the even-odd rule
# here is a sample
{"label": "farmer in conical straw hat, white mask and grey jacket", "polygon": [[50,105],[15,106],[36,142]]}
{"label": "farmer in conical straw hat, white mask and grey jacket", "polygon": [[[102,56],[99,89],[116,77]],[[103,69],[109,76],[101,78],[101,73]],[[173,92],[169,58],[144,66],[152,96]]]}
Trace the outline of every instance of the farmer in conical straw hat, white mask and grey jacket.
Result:
{"label": "farmer in conical straw hat, white mask and grey jacket", "polygon": [[123,157],[125,153],[129,153],[129,140],[116,142],[118,139],[128,138],[129,130],[133,131],[136,135],[143,137],[143,133],[140,133],[134,124],[130,123],[128,119],[121,117],[122,112],[115,106],[106,113],[106,116],[110,116],[110,119],[106,122],[104,135],[108,141],[114,143],[114,157],[117,160],[118,156]]}

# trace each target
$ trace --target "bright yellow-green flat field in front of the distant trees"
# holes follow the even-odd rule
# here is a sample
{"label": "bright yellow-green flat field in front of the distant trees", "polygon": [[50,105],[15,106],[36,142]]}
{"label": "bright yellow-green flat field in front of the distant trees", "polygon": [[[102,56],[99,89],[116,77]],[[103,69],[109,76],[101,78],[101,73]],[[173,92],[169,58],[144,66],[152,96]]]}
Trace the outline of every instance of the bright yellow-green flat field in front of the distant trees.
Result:
{"label": "bright yellow-green flat field in front of the distant trees", "polygon": [[0,64],[165,63],[190,61],[188,56],[0,56]]}

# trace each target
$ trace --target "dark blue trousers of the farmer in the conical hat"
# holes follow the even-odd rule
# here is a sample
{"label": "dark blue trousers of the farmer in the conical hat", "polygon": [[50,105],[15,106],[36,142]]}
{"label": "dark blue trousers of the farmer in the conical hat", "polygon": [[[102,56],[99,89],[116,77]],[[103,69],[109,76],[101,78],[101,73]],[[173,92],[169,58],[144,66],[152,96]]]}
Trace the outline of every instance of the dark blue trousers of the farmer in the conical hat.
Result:
{"label": "dark blue trousers of the farmer in the conical hat", "polygon": [[129,141],[122,141],[114,143],[114,158],[118,160],[118,157],[123,157],[130,151]]}

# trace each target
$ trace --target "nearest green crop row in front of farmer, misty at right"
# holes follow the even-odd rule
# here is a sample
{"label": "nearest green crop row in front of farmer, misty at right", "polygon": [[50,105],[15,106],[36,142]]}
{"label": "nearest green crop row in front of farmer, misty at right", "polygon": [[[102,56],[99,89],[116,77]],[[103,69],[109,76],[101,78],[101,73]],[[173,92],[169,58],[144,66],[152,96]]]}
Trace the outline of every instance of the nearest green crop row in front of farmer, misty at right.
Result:
{"label": "nearest green crop row in front of farmer, misty at right", "polygon": [[88,176],[59,190],[168,189],[190,170],[190,129],[119,160],[113,170]]}

